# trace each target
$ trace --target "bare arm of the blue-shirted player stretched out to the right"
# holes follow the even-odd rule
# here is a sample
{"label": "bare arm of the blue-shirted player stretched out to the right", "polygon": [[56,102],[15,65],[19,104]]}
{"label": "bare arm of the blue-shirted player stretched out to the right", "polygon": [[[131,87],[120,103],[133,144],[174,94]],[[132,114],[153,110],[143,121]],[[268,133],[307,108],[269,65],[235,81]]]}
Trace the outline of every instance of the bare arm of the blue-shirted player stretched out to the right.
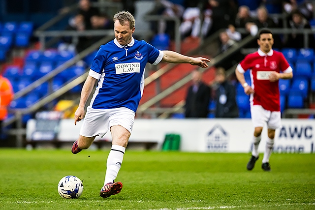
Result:
{"label": "bare arm of the blue-shirted player stretched out to the right", "polygon": [[184,56],[182,54],[176,53],[174,51],[163,50],[162,61],[169,63],[190,63],[191,65],[198,65],[202,68],[207,68],[209,65],[207,62],[210,62],[209,59],[198,57],[193,58],[189,56]]}

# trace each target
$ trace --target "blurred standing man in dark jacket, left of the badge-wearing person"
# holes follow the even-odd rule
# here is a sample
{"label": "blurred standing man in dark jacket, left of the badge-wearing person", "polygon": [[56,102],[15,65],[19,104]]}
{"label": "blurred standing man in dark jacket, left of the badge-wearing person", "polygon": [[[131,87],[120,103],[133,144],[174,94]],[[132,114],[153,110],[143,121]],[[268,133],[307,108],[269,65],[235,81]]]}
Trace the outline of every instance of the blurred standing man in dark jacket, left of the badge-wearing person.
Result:
{"label": "blurred standing man in dark jacket, left of the badge-wearing person", "polygon": [[201,81],[201,73],[197,70],[192,72],[192,85],[189,87],[186,104],[186,118],[207,118],[209,112],[210,87]]}

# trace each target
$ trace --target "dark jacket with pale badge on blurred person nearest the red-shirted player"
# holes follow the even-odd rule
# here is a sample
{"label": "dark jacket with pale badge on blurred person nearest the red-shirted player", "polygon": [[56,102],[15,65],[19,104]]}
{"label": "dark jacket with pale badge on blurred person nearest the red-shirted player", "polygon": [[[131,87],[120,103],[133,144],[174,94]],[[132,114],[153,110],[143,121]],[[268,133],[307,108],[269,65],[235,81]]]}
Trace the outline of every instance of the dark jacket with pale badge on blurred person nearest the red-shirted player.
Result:
{"label": "dark jacket with pale badge on blurred person nearest the red-shirted player", "polygon": [[[224,97],[226,101],[224,100]],[[218,86],[218,89],[216,90],[215,101],[217,104],[215,113],[216,118],[239,117],[238,107],[235,100],[235,88],[232,84],[225,81],[220,86]]]}

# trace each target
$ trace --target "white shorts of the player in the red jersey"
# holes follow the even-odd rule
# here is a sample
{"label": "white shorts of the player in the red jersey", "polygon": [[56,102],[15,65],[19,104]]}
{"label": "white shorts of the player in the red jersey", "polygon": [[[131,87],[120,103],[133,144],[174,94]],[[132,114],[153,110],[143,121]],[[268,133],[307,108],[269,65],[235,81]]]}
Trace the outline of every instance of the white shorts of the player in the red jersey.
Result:
{"label": "white shorts of the player in the red jersey", "polygon": [[251,105],[252,123],[254,127],[263,127],[267,123],[268,129],[281,127],[281,112],[265,110],[260,105]]}

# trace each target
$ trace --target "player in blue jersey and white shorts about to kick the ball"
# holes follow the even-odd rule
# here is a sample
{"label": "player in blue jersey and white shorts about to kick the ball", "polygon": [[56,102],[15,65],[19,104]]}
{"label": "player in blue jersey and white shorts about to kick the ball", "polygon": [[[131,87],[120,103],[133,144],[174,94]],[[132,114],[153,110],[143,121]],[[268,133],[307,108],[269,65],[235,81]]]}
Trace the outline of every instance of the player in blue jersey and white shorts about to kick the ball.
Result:
{"label": "player in blue jersey and white shorts about to kick the ball", "polygon": [[190,63],[207,68],[207,62],[210,62],[206,58],[160,51],[144,40],[133,39],[135,20],[127,11],[117,12],[113,20],[115,39],[100,46],[81,91],[74,124],[83,119],[84,106],[98,81],[79,138],[71,149],[74,154],[88,149],[95,136],[102,137],[110,130],[112,148],[107,158],[104,186],[99,193],[103,198],[118,194],[123,188],[122,182],[114,180],[121,168],[135,112],[142,97],[146,63]]}

